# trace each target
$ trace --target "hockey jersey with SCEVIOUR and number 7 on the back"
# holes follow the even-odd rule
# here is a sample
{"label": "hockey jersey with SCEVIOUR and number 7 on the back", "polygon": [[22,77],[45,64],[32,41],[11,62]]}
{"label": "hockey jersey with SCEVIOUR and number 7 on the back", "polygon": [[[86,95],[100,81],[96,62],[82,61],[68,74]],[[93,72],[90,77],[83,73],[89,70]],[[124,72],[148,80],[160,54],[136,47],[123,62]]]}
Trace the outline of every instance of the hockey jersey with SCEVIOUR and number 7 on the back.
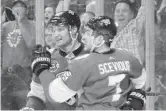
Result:
{"label": "hockey jersey with SCEVIOUR and number 7 on the back", "polygon": [[125,101],[120,95],[128,90],[132,79],[141,74],[142,66],[136,57],[127,51],[112,50],[76,57],[67,73],[60,73],[59,77],[69,89],[84,90],[78,99],[78,109],[110,110]]}

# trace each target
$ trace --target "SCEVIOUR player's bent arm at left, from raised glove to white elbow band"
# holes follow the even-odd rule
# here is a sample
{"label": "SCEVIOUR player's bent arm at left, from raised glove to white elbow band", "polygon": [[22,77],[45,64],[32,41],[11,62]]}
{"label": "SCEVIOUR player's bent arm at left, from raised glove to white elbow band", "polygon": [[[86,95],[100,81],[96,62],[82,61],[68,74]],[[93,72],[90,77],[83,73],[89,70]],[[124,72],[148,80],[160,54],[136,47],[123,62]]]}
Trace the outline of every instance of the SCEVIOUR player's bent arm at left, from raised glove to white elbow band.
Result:
{"label": "SCEVIOUR player's bent arm at left, from raised glove to white elbow band", "polygon": [[[50,54],[48,54],[48,52],[45,49],[42,49],[42,50],[41,49],[42,47],[38,46],[36,47],[34,51],[34,59],[31,65],[32,70],[34,74],[37,77],[39,77],[44,89],[44,93],[47,96],[47,99],[49,101],[58,102],[58,103],[66,102],[67,100],[72,98],[72,96],[75,96],[77,91],[70,88],[69,86],[73,84],[72,83],[73,81],[74,81],[74,85],[71,85],[71,86],[75,86],[75,83],[77,84],[77,82],[80,82],[78,80],[81,80],[81,78],[79,78],[79,76],[76,76],[78,80],[72,80],[72,82],[70,82],[70,79],[67,79],[70,76],[69,71],[64,71],[62,72],[62,77],[58,79],[55,78],[55,76],[52,73],[50,73],[48,70],[51,65]],[[64,80],[67,80],[67,81],[64,81]],[[61,95],[65,97],[65,99],[64,98],[60,98],[60,100],[57,99]]]}

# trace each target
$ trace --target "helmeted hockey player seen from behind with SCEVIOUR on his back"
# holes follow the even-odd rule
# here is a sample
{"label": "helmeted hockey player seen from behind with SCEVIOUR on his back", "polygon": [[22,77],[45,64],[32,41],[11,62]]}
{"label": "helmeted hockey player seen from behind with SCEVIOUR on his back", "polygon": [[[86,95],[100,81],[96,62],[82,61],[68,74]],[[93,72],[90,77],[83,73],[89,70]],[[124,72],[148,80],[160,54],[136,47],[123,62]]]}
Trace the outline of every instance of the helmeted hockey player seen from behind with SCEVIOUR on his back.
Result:
{"label": "helmeted hockey player seen from behind with SCEVIOUR on his back", "polygon": [[142,109],[145,103],[145,94],[141,90],[145,84],[142,66],[129,52],[109,48],[110,39],[115,35],[116,26],[111,18],[91,19],[82,37],[84,50],[92,53],[70,61],[68,68],[56,78],[48,71],[48,52],[35,53],[32,69],[42,85],[47,87],[45,91],[49,98],[70,105],[75,103],[74,98],[78,98],[78,110]]}

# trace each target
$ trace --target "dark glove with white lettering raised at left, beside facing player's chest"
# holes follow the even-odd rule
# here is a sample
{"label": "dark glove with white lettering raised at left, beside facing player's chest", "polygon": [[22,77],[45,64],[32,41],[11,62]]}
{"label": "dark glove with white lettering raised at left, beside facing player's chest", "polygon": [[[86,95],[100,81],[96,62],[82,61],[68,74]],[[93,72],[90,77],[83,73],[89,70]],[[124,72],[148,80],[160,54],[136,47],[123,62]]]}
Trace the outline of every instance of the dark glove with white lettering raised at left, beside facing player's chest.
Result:
{"label": "dark glove with white lettering raised at left, beside facing player's chest", "polygon": [[32,64],[31,68],[33,73],[38,77],[44,70],[49,69],[51,66],[51,54],[46,50],[46,47],[36,45],[32,51]]}

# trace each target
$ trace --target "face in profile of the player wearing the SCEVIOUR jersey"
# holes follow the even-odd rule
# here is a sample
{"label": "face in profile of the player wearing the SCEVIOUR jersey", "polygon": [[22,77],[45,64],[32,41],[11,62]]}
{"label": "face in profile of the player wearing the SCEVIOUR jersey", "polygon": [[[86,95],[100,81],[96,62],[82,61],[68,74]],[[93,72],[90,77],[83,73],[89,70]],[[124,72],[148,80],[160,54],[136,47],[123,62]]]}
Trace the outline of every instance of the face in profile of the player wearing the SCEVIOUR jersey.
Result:
{"label": "face in profile of the player wearing the SCEVIOUR jersey", "polygon": [[93,46],[93,30],[86,28],[86,31],[82,33],[82,43],[84,44],[84,50],[90,51]]}

